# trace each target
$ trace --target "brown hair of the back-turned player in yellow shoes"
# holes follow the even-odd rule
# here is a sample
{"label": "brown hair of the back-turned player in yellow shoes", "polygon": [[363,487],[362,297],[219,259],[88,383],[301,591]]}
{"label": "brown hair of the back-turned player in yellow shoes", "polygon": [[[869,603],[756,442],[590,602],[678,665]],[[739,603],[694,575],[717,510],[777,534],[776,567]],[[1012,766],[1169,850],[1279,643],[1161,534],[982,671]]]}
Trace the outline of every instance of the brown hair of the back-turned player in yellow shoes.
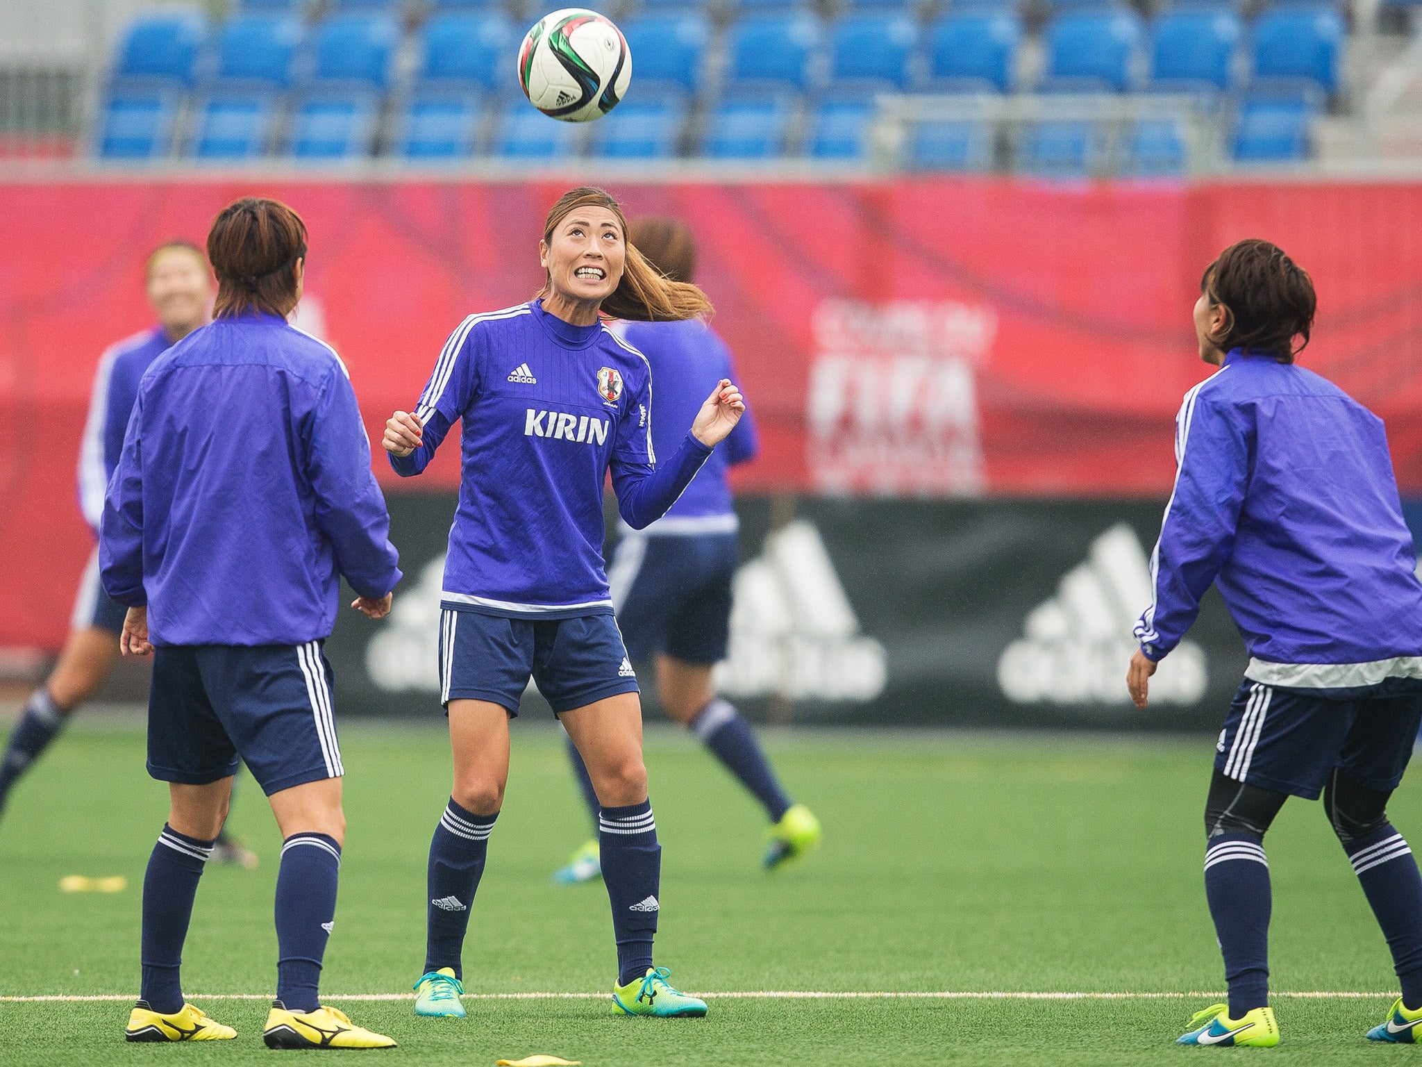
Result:
{"label": "brown hair of the back-turned player in yellow shoes", "polygon": [[213,219],[208,259],[218,276],[215,319],[243,312],[286,316],[297,300],[293,267],[306,259],[306,223],[279,201],[247,196]]}

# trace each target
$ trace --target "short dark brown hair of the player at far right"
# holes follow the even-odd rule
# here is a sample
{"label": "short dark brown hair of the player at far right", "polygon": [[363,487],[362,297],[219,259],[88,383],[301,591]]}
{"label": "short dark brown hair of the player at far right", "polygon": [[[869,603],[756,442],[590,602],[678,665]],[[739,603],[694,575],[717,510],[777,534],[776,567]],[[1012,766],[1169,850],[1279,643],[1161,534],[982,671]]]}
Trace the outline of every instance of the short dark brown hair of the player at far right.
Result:
{"label": "short dark brown hair of the player at far right", "polygon": [[[1244,349],[1293,363],[1308,344],[1318,297],[1308,272],[1267,240],[1230,245],[1204,269],[1200,292],[1224,304],[1224,330],[1209,337],[1223,351]],[[1295,349],[1294,339],[1303,341]]]}

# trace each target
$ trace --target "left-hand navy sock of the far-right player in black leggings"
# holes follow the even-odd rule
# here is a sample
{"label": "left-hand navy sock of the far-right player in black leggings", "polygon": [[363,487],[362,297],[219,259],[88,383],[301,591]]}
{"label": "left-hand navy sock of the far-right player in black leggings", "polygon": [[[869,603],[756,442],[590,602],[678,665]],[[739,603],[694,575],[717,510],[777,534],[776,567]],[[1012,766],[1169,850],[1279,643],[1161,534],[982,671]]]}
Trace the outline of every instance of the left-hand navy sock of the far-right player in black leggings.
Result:
{"label": "left-hand navy sock of the far-right player in black leggings", "polygon": [[1249,834],[1210,838],[1204,895],[1224,953],[1230,1019],[1268,1003],[1268,918],[1273,898],[1264,844]]}

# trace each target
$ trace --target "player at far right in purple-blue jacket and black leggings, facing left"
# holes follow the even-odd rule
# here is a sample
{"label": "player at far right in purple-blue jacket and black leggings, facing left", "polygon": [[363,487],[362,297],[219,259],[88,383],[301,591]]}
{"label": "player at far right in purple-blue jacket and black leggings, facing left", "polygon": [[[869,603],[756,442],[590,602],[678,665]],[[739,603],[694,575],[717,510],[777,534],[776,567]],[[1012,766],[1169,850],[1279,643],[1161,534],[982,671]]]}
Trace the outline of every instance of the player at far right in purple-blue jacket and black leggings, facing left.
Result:
{"label": "player at far right in purple-blue jacket and black leggings, facing left", "polygon": [[1422,1023],[1422,875],[1386,814],[1422,721],[1422,582],[1382,421],[1294,364],[1314,307],[1313,280],[1264,240],[1227,248],[1194,304],[1200,359],[1220,368],[1176,420],[1179,471],[1128,686],[1145,707],[1212,583],[1250,662],[1204,809],[1229,1003],[1196,1013],[1180,1044],[1278,1044],[1264,834],[1290,795],[1320,792],[1402,984],[1368,1037],[1412,1043]]}

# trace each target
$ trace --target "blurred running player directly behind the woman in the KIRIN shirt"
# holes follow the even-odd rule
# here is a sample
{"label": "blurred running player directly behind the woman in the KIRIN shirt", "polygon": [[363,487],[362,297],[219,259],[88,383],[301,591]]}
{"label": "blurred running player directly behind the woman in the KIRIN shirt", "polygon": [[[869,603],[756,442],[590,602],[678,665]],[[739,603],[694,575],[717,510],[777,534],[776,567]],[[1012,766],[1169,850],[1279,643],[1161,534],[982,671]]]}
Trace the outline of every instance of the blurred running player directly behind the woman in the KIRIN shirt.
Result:
{"label": "blurred running player directly behind the woman in the KIRIN shirt", "polygon": [[[654,267],[677,282],[693,282],[697,265],[691,230],[674,219],[638,219],[631,243]],[[651,366],[657,403],[651,441],[670,455],[691,425],[707,390],[735,378],[725,343],[701,319],[675,323],[619,323],[613,329]],[[751,413],[701,467],[691,485],[644,531],[626,524],[607,569],[617,625],[637,663],[653,660],[657,699],[691,730],[765,808],[771,819],[765,866],[775,868],[819,844],[819,821],[786,795],[749,723],[711,689],[711,667],[725,659],[731,627],[737,529],[728,468],[755,457]],[[597,849],[597,792],[587,767],[569,741],[567,754],[593,818],[587,841],[553,881],[586,882],[602,872]]]}

